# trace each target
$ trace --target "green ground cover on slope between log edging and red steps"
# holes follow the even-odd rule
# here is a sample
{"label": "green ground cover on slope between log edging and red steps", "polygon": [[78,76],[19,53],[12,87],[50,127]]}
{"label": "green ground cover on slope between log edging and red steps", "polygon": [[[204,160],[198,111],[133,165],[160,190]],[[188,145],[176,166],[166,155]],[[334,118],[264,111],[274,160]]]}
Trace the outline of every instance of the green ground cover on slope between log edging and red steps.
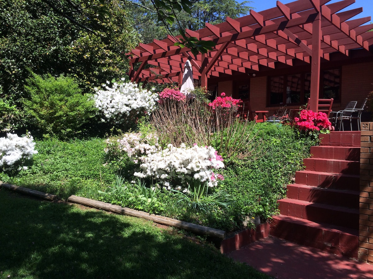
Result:
{"label": "green ground cover on slope between log edging and red steps", "polygon": [[[264,222],[276,214],[277,199],[285,195],[295,171],[302,169],[310,145],[316,144],[310,138],[299,138],[289,126],[257,124],[254,132],[260,145],[256,158],[228,165],[222,171],[225,180],[216,188],[228,193],[231,204],[227,208],[210,206],[206,212],[191,211],[188,202],[167,190],[148,202],[137,183],[131,183],[137,181],[133,164],[109,158],[103,138],[36,140],[38,154],[28,169],[0,172],[0,180],[53,193],[64,200],[79,195],[229,232],[241,229],[246,216],[259,216]],[[123,177],[119,188],[115,186],[118,173]]]}

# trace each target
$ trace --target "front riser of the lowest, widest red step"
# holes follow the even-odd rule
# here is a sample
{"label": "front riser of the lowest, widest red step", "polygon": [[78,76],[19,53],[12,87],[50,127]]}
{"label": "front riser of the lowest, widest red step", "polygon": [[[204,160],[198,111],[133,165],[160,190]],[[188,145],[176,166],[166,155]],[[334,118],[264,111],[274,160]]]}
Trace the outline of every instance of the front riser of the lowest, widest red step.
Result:
{"label": "front riser of the lowest, widest red step", "polygon": [[273,217],[270,235],[329,253],[357,258],[358,237],[338,231],[295,224]]}

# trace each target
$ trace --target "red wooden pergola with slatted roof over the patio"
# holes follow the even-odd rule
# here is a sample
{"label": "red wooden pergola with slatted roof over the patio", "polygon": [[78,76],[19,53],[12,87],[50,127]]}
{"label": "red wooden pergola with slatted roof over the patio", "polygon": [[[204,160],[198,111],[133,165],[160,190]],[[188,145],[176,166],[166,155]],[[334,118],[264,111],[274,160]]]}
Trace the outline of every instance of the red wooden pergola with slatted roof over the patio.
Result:
{"label": "red wooden pergola with slatted roof over the patio", "polygon": [[[372,51],[373,24],[370,17],[349,20],[363,8],[339,12],[355,3],[342,0],[297,0],[288,4],[277,1],[276,7],[262,12],[250,10],[250,15],[217,25],[206,23],[198,31],[186,29],[186,34],[204,41],[214,41],[216,47],[207,54],[192,55],[190,49],[174,46],[177,38],[140,44],[129,53],[131,81],[161,80],[179,82],[187,59],[194,67],[194,78],[207,87],[207,78],[222,74],[252,74],[281,64],[292,66],[295,60],[311,64],[310,109],[317,111],[320,84],[320,58],[329,60],[332,52],[349,55],[352,49]],[[140,64],[140,65],[139,65]],[[145,68],[147,64],[156,66]],[[139,66],[138,66],[139,65]],[[138,66],[137,70],[134,66]]]}

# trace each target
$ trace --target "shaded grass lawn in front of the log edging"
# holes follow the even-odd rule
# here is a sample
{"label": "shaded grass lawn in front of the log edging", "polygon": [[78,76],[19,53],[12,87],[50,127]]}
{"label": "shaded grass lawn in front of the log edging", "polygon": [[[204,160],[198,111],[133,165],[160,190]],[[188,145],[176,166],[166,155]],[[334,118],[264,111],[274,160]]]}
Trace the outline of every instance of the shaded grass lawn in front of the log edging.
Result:
{"label": "shaded grass lawn in front of the log edging", "polygon": [[0,189],[0,278],[268,278],[142,219]]}

